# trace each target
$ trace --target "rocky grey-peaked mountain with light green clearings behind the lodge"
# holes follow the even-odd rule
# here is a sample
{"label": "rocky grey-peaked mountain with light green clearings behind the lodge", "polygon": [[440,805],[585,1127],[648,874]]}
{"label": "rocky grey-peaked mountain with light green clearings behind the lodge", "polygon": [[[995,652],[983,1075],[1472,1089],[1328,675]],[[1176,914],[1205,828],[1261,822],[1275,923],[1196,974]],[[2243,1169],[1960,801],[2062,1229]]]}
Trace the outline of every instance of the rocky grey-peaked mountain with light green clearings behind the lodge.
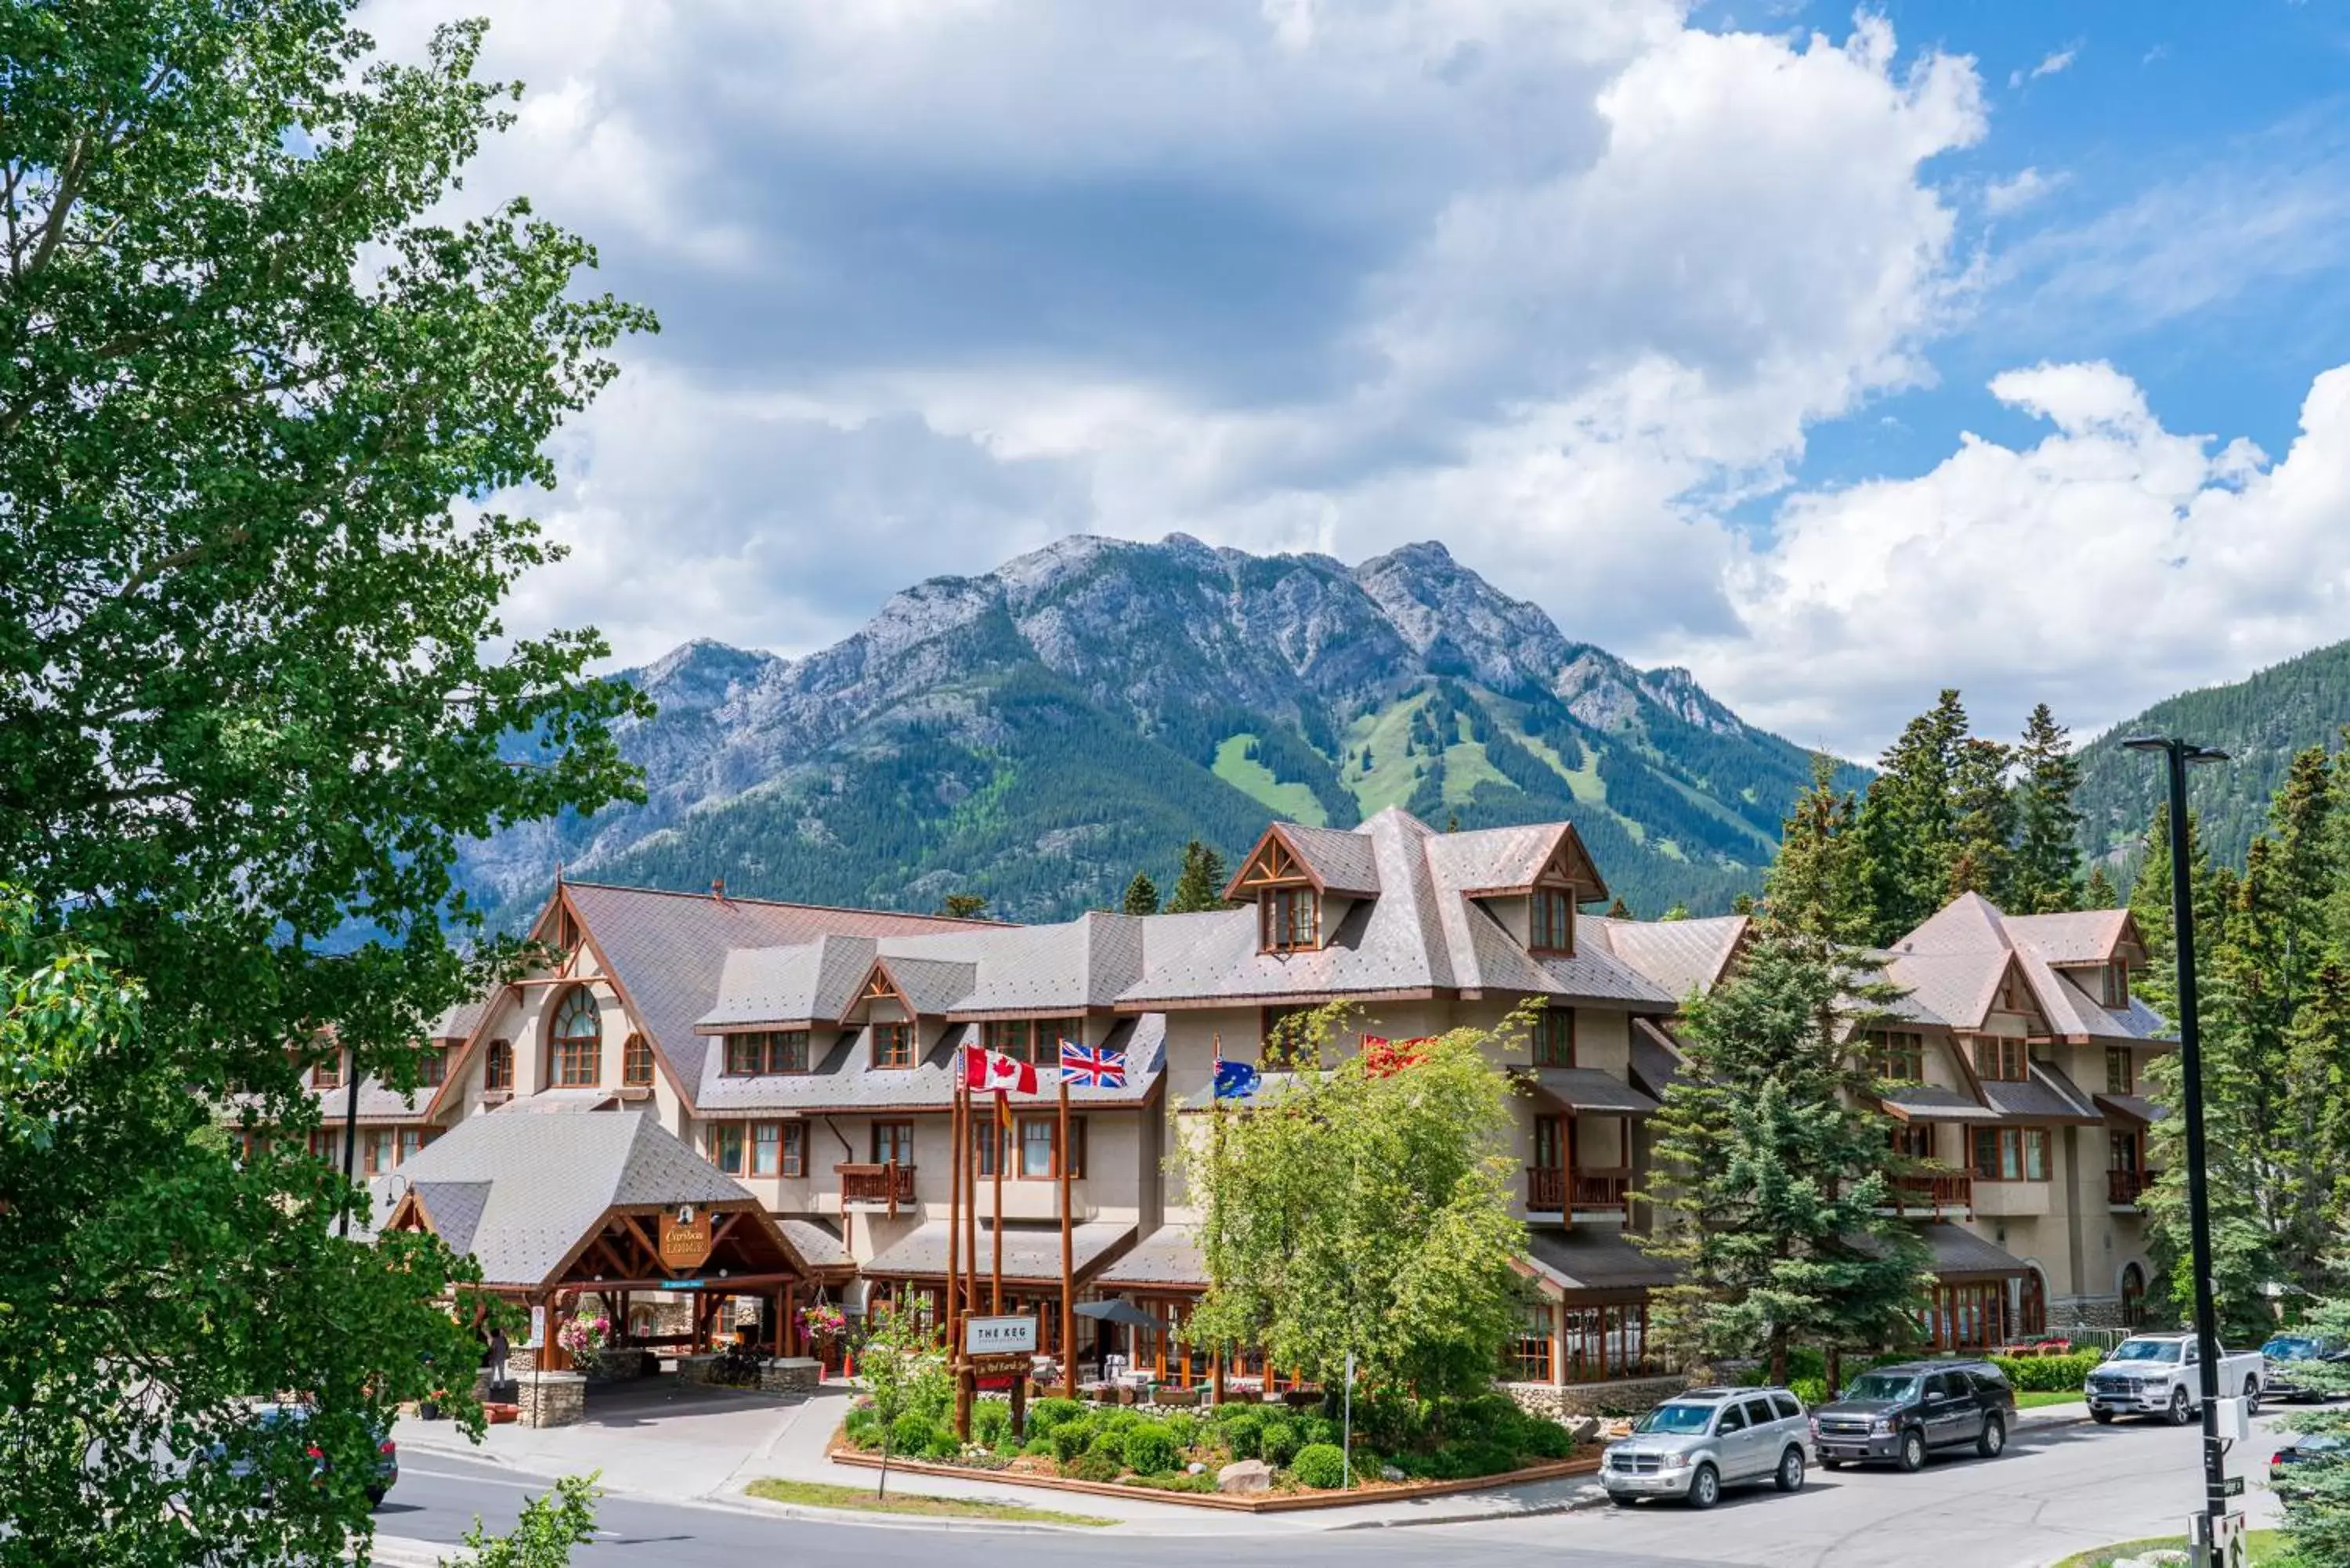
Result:
{"label": "rocky grey-peaked mountain with light green clearings behind the lodge", "polygon": [[[1758,886],[1810,757],[1687,670],[1636,670],[1405,545],[1344,567],[1182,534],[1065,538],[931,578],[785,661],[686,644],[620,675],[651,799],[505,832],[468,860],[505,914],[573,877],[877,907],[982,893],[1055,919],[1231,863],[1267,818],[1405,806],[1462,827],[1572,818],[1640,914]],[[1861,778],[1852,771],[1849,780]]]}

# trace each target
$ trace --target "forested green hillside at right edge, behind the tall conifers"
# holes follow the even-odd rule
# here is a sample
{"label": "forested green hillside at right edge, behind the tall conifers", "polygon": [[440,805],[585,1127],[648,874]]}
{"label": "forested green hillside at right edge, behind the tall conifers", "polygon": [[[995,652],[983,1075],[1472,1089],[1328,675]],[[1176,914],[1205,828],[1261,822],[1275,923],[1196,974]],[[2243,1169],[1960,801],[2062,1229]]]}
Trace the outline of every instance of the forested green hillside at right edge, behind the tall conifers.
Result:
{"label": "forested green hillside at right edge, behind the tall conifers", "polygon": [[2244,865],[2244,849],[2268,827],[2268,797],[2284,783],[2294,752],[2338,748],[2350,722],[2350,642],[2287,658],[2232,686],[2181,691],[2115,724],[2080,750],[2082,842],[2127,872],[2167,783],[2160,757],[2124,752],[2124,736],[2186,736],[2228,752],[2225,764],[2188,771],[2211,856]]}

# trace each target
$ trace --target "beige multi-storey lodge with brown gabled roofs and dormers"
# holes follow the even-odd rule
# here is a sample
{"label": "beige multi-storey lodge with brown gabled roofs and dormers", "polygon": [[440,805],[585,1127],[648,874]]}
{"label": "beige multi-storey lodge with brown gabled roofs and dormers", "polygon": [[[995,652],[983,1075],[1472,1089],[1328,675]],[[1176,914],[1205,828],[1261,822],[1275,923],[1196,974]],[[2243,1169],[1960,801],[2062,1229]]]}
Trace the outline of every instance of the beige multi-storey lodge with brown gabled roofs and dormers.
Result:
{"label": "beige multi-storey lodge with brown gabled roofs and dormers", "polygon": [[[1539,1001],[1506,1058],[1525,1088],[1516,1211],[1539,1298],[1516,1378],[1572,1406],[1671,1375],[1647,1345],[1647,1298],[1671,1276],[1629,1239],[1652,1222],[1633,1194],[1645,1124],[1683,1067],[1676,1018],[1734,971],[1746,919],[1598,919],[1582,907],[1607,886],[1570,823],[1436,832],[1398,809],[1354,830],[1274,823],[1224,898],[1198,914],[1008,926],[731,898],[724,884],[559,882],[533,926],[559,957],[442,1018],[414,1095],[320,1079],[317,1147],[338,1152],[343,1095],[357,1093],[362,1171],[423,1190],[435,1140],[461,1124],[634,1112],[757,1199],[790,1300],[860,1312],[945,1286],[956,1048],[1034,1060],[1050,1084],[1058,1041],[1109,1046],[1126,1084],[1072,1091],[1067,1147],[1050,1088],[982,1135],[982,1173],[1001,1164],[1006,1180],[1001,1234],[980,1220],[980,1272],[1001,1248],[1006,1293],[1039,1309],[1058,1354],[1067,1164],[1079,1298],[1123,1298],[1170,1326],[1086,1324],[1079,1359],[1198,1385],[1210,1363],[1180,1326],[1208,1284],[1201,1215],[1170,1150],[1213,1107],[1215,1063],[1257,1063],[1283,1018],[1328,1001],[1356,1009],[1340,1048],[1497,1027]],[[1899,1204],[1934,1255],[1934,1342],[2127,1321],[2148,1281],[2136,1201],[2160,1114],[2143,1063],[2164,1048],[2162,1020],[2129,994],[2146,964],[2129,914],[2019,919],[1960,898],[1882,961],[1906,997],[1868,1046],[1918,1168]],[[432,1218],[411,1206],[409,1222]],[[780,1345],[787,1328],[776,1333]],[[1285,1380],[1248,1356],[1224,1375]]]}

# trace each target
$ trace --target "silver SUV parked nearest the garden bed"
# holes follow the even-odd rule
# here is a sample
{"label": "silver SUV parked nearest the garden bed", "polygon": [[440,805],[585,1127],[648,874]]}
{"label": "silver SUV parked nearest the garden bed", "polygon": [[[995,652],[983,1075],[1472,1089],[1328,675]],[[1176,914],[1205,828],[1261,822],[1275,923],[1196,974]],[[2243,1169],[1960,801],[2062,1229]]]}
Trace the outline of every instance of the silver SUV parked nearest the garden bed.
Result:
{"label": "silver SUV parked nearest the garden bed", "polygon": [[1791,1392],[1690,1389],[1607,1446],[1600,1486],[1617,1507],[1640,1497],[1683,1497],[1692,1509],[1708,1509],[1725,1486],[1741,1481],[1800,1490],[1810,1462],[1812,1422]]}

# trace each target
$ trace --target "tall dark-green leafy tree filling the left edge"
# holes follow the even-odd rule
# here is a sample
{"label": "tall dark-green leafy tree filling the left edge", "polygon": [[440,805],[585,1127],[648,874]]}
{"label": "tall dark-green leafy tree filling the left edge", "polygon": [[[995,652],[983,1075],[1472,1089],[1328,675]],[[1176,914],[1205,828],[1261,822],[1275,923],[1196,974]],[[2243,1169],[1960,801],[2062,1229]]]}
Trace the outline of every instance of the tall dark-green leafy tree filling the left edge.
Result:
{"label": "tall dark-green leafy tree filling the left edge", "polygon": [[[634,790],[602,639],[498,623],[559,552],[496,498],[552,482],[548,435],[651,320],[522,202],[439,216],[510,118],[482,28],[388,63],[350,9],[0,9],[7,983],[92,999],[26,1004],[0,1084],[0,1563],[369,1530],[390,1406],[472,1366],[437,1305],[463,1269],[331,1239],[303,1072],[414,1086],[428,1020],[515,961],[458,844]],[[282,1143],[230,1159],[226,1107]],[[256,1509],[157,1465],[273,1389],[329,1486]]]}

